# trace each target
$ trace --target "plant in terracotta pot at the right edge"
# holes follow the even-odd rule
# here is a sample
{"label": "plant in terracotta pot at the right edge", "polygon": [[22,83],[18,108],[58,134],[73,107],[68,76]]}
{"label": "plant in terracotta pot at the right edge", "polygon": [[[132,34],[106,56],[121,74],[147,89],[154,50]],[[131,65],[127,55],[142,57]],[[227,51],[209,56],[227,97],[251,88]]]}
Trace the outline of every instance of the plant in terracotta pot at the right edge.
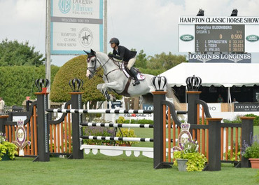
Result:
{"label": "plant in terracotta pot at the right edge", "polygon": [[253,136],[251,141],[251,146],[244,141],[244,151],[242,152],[242,156],[250,160],[252,168],[259,168],[259,136]]}

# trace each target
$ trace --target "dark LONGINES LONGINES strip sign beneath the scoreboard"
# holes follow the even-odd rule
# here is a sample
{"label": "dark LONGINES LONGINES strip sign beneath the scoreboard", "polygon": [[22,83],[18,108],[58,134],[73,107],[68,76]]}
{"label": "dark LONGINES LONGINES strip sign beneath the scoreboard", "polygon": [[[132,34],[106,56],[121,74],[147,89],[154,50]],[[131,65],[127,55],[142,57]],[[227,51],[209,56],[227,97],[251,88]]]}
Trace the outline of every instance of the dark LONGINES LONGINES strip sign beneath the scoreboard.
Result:
{"label": "dark LONGINES LONGINES strip sign beneath the scoreboard", "polygon": [[251,53],[190,53],[189,62],[251,63]]}

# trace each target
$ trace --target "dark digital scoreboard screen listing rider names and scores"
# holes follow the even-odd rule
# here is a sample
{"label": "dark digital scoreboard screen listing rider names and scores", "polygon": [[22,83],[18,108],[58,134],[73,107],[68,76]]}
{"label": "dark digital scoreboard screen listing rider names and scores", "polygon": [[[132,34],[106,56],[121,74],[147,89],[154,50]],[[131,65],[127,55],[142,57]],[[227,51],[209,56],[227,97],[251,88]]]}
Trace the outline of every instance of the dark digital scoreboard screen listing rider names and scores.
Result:
{"label": "dark digital scoreboard screen listing rider names and scores", "polygon": [[195,25],[195,52],[244,53],[244,25]]}

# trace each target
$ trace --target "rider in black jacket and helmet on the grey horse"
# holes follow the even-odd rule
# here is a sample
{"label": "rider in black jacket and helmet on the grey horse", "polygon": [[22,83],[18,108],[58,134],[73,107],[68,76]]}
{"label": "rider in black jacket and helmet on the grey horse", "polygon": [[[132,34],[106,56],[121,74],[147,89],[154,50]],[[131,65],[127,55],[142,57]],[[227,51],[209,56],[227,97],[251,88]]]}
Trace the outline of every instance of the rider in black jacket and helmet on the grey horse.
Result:
{"label": "rider in black jacket and helmet on the grey horse", "polygon": [[108,56],[128,62],[127,68],[130,70],[133,78],[135,79],[135,84],[139,84],[140,82],[137,78],[137,71],[134,71],[132,68],[137,59],[137,51],[129,50],[124,46],[119,46],[120,41],[117,38],[111,38],[109,43],[111,43],[111,48],[113,48],[113,54],[109,53]]}

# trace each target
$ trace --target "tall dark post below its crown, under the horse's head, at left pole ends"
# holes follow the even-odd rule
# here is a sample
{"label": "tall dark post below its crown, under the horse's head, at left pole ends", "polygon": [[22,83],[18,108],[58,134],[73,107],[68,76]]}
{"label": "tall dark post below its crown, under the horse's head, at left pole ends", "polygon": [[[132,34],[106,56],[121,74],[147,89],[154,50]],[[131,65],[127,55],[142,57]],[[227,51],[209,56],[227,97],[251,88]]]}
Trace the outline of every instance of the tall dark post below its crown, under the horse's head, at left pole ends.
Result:
{"label": "tall dark post below its crown, under the horse's head, at left pole ends", "polygon": [[[71,109],[82,109],[82,92],[71,92]],[[73,132],[73,155],[70,158],[80,159],[83,158],[83,150],[80,150],[81,141],[80,137],[82,135],[82,114],[73,113],[72,114],[72,132]]]}

